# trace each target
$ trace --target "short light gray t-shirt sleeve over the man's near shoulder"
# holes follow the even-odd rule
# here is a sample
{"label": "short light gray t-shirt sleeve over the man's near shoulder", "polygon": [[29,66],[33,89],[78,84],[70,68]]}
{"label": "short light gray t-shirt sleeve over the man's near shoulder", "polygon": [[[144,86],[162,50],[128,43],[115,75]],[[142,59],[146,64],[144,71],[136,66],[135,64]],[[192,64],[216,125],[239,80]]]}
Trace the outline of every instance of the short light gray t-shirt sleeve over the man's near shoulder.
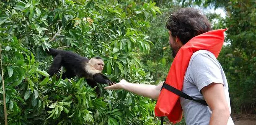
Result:
{"label": "short light gray t-shirt sleeve over the man's near shoulder", "polygon": [[195,84],[199,90],[213,82],[223,84],[221,68],[216,58],[208,54],[199,53],[192,56],[189,69],[189,76],[192,84]]}

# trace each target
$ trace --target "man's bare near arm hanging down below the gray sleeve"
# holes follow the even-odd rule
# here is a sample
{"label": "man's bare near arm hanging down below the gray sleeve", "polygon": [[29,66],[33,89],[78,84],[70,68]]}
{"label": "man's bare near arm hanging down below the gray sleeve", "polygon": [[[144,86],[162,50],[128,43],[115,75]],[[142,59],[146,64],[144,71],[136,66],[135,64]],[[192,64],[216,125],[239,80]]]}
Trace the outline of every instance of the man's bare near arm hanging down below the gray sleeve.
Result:
{"label": "man's bare near arm hanging down below the gray sleeve", "polygon": [[211,83],[203,87],[201,92],[212,110],[209,125],[227,125],[230,111],[225,99],[223,84]]}

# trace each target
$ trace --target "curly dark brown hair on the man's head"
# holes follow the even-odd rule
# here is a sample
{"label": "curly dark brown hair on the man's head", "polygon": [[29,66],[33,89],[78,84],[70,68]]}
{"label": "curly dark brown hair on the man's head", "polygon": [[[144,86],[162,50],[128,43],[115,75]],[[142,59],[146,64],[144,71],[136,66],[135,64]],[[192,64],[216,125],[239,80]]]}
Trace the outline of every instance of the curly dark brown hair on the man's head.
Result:
{"label": "curly dark brown hair on the man's head", "polygon": [[191,38],[211,31],[211,23],[207,17],[195,8],[181,8],[172,13],[166,23],[166,28],[173,37],[180,38],[183,44]]}

